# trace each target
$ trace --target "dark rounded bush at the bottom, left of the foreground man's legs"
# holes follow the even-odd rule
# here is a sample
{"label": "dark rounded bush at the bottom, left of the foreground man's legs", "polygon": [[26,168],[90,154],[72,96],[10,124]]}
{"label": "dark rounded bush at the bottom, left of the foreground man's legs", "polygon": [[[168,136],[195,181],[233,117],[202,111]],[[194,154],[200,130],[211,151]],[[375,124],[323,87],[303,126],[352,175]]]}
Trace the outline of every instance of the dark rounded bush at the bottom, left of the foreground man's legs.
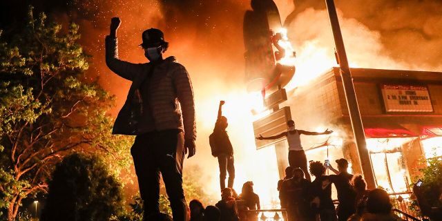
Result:
{"label": "dark rounded bush at the bottom, left of the foreground man's legs", "polygon": [[75,153],[56,166],[41,220],[109,220],[122,207],[121,185],[108,166]]}

